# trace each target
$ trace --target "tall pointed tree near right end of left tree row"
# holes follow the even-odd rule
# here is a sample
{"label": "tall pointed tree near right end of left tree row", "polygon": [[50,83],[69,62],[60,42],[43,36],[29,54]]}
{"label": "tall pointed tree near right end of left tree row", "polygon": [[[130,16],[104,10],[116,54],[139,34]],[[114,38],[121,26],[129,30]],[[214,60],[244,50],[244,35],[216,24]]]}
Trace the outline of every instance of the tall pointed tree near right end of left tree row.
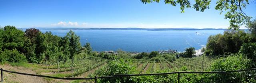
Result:
{"label": "tall pointed tree near right end of left tree row", "polygon": [[70,41],[70,59],[73,59],[76,52],[81,48],[80,38],[72,30],[67,34],[67,37]]}

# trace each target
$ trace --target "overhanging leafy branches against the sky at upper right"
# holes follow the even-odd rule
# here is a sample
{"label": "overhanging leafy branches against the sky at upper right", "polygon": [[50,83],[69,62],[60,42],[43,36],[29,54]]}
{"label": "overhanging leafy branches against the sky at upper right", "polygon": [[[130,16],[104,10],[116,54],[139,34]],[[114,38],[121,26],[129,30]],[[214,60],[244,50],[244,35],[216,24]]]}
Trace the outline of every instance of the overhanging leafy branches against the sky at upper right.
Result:
{"label": "overhanging leafy branches against the sky at upper right", "polygon": [[[157,2],[160,0],[141,0],[143,4]],[[164,0],[165,4],[171,4],[172,6],[176,6],[176,4],[180,5],[181,13],[185,12],[186,8],[192,8],[190,0]],[[211,0],[195,0],[195,4],[193,4],[193,8],[196,11],[204,12],[205,9],[209,9]],[[246,5],[249,5],[248,0],[218,0],[215,6],[215,10],[219,10],[220,14],[223,11],[227,11],[225,14],[225,19],[229,19],[230,27],[229,29],[238,30],[240,26],[250,22],[252,17],[247,16],[244,13],[244,9]]]}

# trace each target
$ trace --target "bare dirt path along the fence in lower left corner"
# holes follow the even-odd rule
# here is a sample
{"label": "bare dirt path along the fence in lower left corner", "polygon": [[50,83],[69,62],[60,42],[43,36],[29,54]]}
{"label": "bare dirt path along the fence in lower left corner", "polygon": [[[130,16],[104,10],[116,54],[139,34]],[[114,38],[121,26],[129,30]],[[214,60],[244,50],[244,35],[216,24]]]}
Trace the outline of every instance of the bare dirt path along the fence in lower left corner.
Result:
{"label": "bare dirt path along the fence in lower left corner", "polygon": [[[9,64],[0,65],[0,68],[9,71],[16,71],[22,73],[30,73],[36,74],[35,71],[32,71],[30,68],[24,67],[12,67]],[[20,75],[14,73],[3,72],[4,83],[47,83],[42,77],[28,76],[28,75]]]}

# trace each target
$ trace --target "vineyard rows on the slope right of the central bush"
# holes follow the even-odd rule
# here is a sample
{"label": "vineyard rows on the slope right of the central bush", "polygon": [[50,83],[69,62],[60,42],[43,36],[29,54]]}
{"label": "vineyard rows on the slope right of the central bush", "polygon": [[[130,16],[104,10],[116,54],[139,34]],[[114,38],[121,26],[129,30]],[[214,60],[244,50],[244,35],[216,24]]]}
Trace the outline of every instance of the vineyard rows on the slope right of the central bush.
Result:
{"label": "vineyard rows on the slope right of the central bush", "polygon": [[151,61],[146,63],[138,62],[132,64],[134,67],[136,67],[135,74],[154,73],[155,71],[164,69],[168,71],[180,71],[182,67],[186,67],[188,71],[205,71],[214,60],[215,59],[200,56],[192,58],[179,58],[173,62],[160,61],[156,63],[155,61]]}

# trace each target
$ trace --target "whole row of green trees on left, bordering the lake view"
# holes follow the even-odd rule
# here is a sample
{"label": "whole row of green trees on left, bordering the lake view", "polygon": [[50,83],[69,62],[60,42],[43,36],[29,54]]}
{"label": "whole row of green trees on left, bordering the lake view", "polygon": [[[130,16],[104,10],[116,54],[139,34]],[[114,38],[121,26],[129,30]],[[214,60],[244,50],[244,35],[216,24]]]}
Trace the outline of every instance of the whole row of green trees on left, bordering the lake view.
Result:
{"label": "whole row of green trees on left, bordering the lake view", "polygon": [[[90,45],[88,48],[91,49]],[[72,31],[67,36],[59,37],[34,28],[26,29],[25,32],[14,26],[0,28],[0,62],[57,63],[73,58],[80,50],[79,36]],[[87,49],[86,53],[78,56],[86,55]]]}

